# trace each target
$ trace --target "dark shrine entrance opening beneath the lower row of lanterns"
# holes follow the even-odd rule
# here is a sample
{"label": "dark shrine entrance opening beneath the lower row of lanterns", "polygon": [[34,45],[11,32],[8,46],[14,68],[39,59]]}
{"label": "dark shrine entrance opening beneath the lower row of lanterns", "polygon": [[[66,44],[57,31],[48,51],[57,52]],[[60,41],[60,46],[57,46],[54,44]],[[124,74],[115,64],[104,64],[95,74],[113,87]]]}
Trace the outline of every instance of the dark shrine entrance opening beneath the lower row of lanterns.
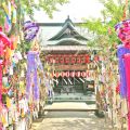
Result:
{"label": "dark shrine entrance opening beneath the lower row of lanterns", "polygon": [[[94,81],[88,81],[83,77],[62,77],[60,76],[57,79],[54,78],[54,92],[62,93],[83,93],[87,91],[94,92]],[[56,82],[57,81],[57,82]]]}

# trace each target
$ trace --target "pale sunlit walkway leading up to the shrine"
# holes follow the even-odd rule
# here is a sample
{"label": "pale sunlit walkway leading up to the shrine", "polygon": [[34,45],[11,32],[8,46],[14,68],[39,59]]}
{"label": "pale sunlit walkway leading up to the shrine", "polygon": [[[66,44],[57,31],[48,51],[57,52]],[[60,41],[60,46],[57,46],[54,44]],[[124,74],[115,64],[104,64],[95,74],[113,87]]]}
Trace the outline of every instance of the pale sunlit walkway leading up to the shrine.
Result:
{"label": "pale sunlit walkway leading up to the shrine", "polygon": [[[87,107],[83,103],[56,103],[52,107]],[[113,130],[110,121],[98,118],[92,112],[49,112],[31,130]]]}

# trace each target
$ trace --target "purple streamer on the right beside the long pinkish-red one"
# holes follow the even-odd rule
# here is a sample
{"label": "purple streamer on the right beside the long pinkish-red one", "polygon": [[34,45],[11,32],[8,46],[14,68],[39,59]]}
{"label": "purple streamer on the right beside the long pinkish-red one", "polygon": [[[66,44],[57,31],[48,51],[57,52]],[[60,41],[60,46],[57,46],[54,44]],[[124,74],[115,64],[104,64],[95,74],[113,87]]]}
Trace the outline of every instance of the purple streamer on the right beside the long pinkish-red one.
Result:
{"label": "purple streamer on the right beside the long pinkish-red one", "polygon": [[123,55],[130,53],[130,49],[120,44],[117,50],[117,55],[119,58],[119,74],[120,74],[120,95],[122,98],[127,98],[127,82],[126,82],[126,69],[125,69],[125,62]]}

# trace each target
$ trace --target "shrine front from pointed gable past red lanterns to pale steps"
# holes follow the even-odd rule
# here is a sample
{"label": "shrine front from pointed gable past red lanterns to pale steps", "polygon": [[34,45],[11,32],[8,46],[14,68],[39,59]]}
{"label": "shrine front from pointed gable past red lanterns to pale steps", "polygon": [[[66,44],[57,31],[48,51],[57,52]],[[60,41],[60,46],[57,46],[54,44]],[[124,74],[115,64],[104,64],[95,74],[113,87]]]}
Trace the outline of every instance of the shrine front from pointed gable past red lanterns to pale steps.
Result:
{"label": "shrine front from pointed gable past red lanterns to pale steps", "polygon": [[42,47],[43,64],[51,66],[53,102],[95,103],[94,77],[99,56],[98,49],[87,47],[87,41],[68,17],[62,29]]}

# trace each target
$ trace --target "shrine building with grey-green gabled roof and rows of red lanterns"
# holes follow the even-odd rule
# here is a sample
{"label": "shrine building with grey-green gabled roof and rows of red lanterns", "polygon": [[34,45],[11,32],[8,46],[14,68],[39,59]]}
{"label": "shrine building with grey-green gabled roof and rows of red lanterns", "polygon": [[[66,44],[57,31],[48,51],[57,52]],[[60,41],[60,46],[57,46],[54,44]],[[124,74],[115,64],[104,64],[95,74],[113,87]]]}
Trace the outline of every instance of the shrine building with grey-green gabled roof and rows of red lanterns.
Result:
{"label": "shrine building with grey-green gabled roof and rows of red lanterns", "polygon": [[[99,61],[98,49],[87,46],[89,35],[81,32],[80,24],[73,23],[69,17],[65,23],[39,24],[42,28],[40,38],[42,54],[46,56],[44,62],[53,68],[51,74],[54,79],[54,92],[94,91],[96,69],[94,63]],[[87,29],[83,28],[83,30]],[[51,36],[43,38],[43,35]]]}

